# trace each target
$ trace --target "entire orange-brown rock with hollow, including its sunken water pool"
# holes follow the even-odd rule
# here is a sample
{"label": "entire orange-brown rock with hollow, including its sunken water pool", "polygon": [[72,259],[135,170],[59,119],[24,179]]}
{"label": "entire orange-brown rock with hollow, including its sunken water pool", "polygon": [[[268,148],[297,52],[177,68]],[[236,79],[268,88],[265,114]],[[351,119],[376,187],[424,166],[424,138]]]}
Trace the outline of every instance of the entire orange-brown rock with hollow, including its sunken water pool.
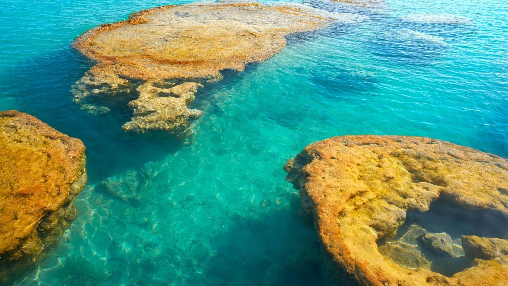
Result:
{"label": "entire orange-brown rock with hollow, including its sunken water pool", "polygon": [[508,160],[426,137],[358,135],[315,142],[284,169],[329,281],[508,281]]}

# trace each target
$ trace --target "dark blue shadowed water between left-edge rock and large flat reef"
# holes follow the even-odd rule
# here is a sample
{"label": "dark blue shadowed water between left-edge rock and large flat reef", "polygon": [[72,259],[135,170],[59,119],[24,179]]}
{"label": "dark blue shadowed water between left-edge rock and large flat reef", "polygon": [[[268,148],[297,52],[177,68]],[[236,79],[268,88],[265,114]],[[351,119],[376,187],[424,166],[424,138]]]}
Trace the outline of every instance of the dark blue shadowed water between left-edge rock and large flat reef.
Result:
{"label": "dark blue shadowed water between left-edge rock and large flat reef", "polygon": [[[71,46],[37,56],[8,70],[0,79],[0,94],[15,96],[15,107],[41,119],[69,136],[79,138],[87,150],[89,183],[123,171],[140,169],[144,163],[161,159],[183,147],[171,136],[126,134],[121,124],[130,119],[128,107],[93,117],[80,110],[71,99],[70,86],[90,67],[90,61]],[[117,99],[115,99],[117,100]],[[130,98],[120,99],[127,101]],[[149,138],[147,140],[146,138]]]}

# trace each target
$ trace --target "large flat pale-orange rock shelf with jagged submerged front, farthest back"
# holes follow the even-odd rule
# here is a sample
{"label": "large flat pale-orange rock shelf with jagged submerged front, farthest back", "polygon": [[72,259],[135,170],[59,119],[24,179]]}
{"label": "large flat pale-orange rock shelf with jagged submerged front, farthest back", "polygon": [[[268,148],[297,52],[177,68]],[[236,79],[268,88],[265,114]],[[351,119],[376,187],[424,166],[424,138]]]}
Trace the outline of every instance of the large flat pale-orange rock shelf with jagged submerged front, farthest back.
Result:
{"label": "large flat pale-orange rock shelf with jagged submerged front, farthest back", "polygon": [[[199,83],[222,78],[219,71],[241,71],[280,52],[290,33],[323,28],[339,19],[361,16],[306,6],[267,7],[254,3],[163,6],[132,14],[128,20],[92,28],[74,46],[98,62],[72,87],[81,109],[98,115],[105,106],[88,98],[137,91],[130,102],[126,131],[168,130],[180,135],[201,111],[188,109]],[[168,91],[167,86],[181,93]],[[187,82],[186,82],[187,81]],[[158,86],[157,86],[158,85]]]}

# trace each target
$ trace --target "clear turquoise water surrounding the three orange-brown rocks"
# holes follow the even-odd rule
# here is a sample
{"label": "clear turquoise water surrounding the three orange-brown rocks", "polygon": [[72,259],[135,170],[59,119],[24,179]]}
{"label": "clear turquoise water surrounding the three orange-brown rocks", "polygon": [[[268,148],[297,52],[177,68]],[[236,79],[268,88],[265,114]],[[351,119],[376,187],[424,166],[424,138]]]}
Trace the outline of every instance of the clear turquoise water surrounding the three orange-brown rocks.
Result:
{"label": "clear turquoise water surrounding the three orange-brown rocks", "polygon": [[[83,140],[89,174],[79,217],[20,284],[61,285],[74,271],[105,285],[320,285],[319,245],[281,169],[307,144],[420,135],[508,157],[501,0],[389,0],[379,9],[307,0],[369,19],[293,35],[267,62],[225,72],[190,107],[204,115],[188,142],[123,132],[128,99],[98,117],[74,105],[70,87],[92,65],[69,46],[74,37],[182,3],[0,4],[0,110],[28,112]],[[139,197],[126,203],[103,181]]]}

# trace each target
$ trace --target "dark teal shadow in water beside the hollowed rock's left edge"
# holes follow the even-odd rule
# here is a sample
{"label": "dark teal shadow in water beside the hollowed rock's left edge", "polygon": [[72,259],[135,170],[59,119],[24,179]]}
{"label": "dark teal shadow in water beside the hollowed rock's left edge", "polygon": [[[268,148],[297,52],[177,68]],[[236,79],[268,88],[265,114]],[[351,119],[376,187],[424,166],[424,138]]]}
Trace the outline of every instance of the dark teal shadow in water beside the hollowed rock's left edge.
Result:
{"label": "dark teal shadow in water beside the hollowed rock's left edge", "polygon": [[[205,271],[207,278],[225,286],[328,284],[321,270],[320,243],[298,211],[267,210],[258,218],[233,214],[235,226],[212,241],[217,254],[210,265],[216,267]],[[358,285],[345,276],[341,282]]]}

